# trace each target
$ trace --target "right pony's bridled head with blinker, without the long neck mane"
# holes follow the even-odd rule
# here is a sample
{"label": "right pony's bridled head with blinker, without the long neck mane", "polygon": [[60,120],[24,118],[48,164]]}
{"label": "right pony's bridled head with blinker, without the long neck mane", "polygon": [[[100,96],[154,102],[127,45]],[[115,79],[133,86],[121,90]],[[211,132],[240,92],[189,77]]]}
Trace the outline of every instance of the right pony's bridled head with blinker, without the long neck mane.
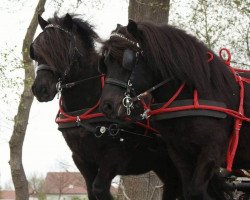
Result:
{"label": "right pony's bridled head with blinker, without the long neck mane", "polygon": [[102,47],[99,70],[106,74],[106,80],[100,110],[110,118],[130,114],[123,105],[130,101],[124,99],[125,95],[133,98],[154,83],[135,34],[136,26],[132,20],[127,27],[117,25]]}

